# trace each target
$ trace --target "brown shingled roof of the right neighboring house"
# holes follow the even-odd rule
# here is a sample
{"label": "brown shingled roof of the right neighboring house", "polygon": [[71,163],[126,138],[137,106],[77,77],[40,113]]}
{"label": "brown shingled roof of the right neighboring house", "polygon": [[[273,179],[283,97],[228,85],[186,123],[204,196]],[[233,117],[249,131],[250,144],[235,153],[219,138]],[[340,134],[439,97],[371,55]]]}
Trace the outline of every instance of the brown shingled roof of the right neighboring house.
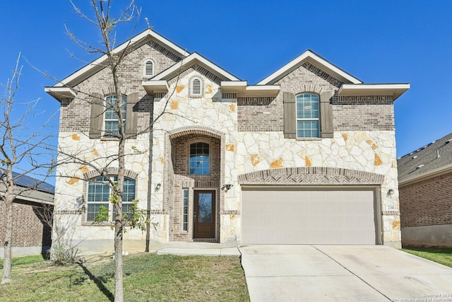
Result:
{"label": "brown shingled roof of the right neighboring house", "polygon": [[400,184],[452,170],[452,133],[398,158]]}

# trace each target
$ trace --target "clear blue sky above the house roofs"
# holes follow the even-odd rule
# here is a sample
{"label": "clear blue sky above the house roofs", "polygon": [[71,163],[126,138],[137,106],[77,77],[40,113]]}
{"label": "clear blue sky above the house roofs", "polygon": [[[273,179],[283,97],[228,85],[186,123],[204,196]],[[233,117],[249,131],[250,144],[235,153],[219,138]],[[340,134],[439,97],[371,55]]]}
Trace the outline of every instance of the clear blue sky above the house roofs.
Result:
{"label": "clear blue sky above the house roofs", "polygon": [[[88,14],[88,0],[74,0]],[[120,11],[127,1],[112,1]],[[153,29],[189,52],[257,83],[307,49],[364,81],[410,83],[395,103],[398,156],[452,132],[452,1],[149,1],[136,33]],[[93,25],[66,0],[0,1],[0,83],[11,76],[18,53],[42,71],[64,79],[87,55],[69,39],[97,43]],[[118,40],[132,25],[118,28]],[[69,55],[73,52],[79,59]],[[85,62],[83,62],[85,61]],[[44,93],[46,79],[23,62],[18,100],[42,98],[52,113],[59,103]],[[58,121],[52,122],[57,132]]]}

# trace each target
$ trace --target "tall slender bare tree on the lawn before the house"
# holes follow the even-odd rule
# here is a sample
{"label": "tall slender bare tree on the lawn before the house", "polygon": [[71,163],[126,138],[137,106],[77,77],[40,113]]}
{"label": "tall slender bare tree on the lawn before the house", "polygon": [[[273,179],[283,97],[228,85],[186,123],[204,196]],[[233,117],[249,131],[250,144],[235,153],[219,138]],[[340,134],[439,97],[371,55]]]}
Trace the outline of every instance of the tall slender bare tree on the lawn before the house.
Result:
{"label": "tall slender bare tree on the lawn before the house", "polygon": [[[87,149],[77,149],[68,150],[64,148],[59,148],[59,165],[64,165],[68,163],[76,163],[83,167],[89,168],[90,170],[95,170],[97,175],[100,175],[102,181],[98,181],[100,185],[107,185],[109,187],[109,202],[113,204],[114,207],[114,217],[113,221],[109,222],[108,209],[101,207],[100,211],[95,217],[95,223],[101,223],[102,225],[112,223],[112,229],[114,230],[114,301],[124,301],[124,290],[123,290],[123,234],[126,228],[139,228],[145,231],[149,228],[149,219],[146,216],[146,211],[138,209],[138,200],[133,200],[133,205],[126,214],[123,211],[123,199],[124,199],[124,179],[125,179],[125,158],[126,156],[133,156],[137,153],[142,153],[143,150],[138,150],[137,148],[132,148],[132,150],[126,150],[126,139],[137,137],[139,134],[149,133],[150,129],[153,127],[153,117],[150,117],[150,123],[145,129],[136,131],[131,134],[126,129],[126,100],[122,98],[124,91],[124,79],[121,75],[121,68],[128,63],[127,56],[134,50],[134,45],[129,40],[129,42],[124,43],[121,47],[117,47],[116,38],[116,28],[121,23],[129,23],[131,21],[136,21],[133,27],[134,31],[136,25],[138,24],[138,18],[141,11],[135,5],[134,0],[130,0],[129,5],[119,13],[118,16],[112,16],[111,1],[109,0],[91,0],[91,5],[93,6],[93,17],[88,16],[83,11],[81,11],[76,4],[71,1],[73,8],[79,16],[83,17],[85,21],[95,25],[95,27],[100,31],[102,40],[100,42],[100,47],[93,44],[85,42],[78,39],[69,29],[66,28],[67,33],[71,40],[81,47],[82,50],[88,54],[100,54],[105,60],[100,63],[102,67],[105,67],[108,72],[108,85],[113,87],[112,95],[113,98],[107,98],[105,100],[102,95],[97,95],[92,91],[84,91],[82,88],[69,87],[76,92],[76,98],[88,103],[92,108],[93,106],[97,108],[97,113],[95,116],[90,117],[94,120],[96,117],[105,115],[108,112],[109,115],[114,115],[117,119],[117,128],[108,131],[107,129],[102,130],[102,126],[98,125],[95,129],[100,135],[101,131],[105,131],[105,134],[112,138],[114,143],[117,144],[114,153],[107,152],[105,156],[92,160],[87,158],[85,154],[89,153]],[[133,35],[133,33],[132,33]],[[118,50],[119,48],[119,50]],[[61,83],[61,82],[60,82]],[[66,85],[65,83],[61,83]],[[167,100],[168,102],[168,100]],[[161,112],[162,115],[164,112]],[[159,115],[159,116],[160,116]],[[92,128],[93,129],[93,128]],[[95,144],[95,142],[93,143]],[[93,145],[94,146],[94,145]],[[152,147],[152,146],[151,146]],[[112,178],[112,168],[117,168],[117,177]],[[59,177],[70,177],[77,178],[76,175],[58,175]],[[116,176],[116,175],[115,175]],[[81,179],[81,178],[78,178]]]}

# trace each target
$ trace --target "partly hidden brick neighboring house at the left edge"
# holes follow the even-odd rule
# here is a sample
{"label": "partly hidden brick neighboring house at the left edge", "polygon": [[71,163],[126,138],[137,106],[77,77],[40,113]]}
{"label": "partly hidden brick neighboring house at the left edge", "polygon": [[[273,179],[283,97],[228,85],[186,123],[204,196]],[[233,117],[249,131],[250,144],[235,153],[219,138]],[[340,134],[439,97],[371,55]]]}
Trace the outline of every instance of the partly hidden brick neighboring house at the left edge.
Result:
{"label": "partly hidden brick neighboring house at the left edge", "polygon": [[[0,177],[2,172],[0,169]],[[13,178],[18,176],[13,173]],[[19,176],[14,182],[20,194],[13,202],[13,257],[45,255],[52,245],[52,218],[54,186],[28,176]],[[0,194],[5,187],[0,184]],[[0,200],[0,240],[4,243],[6,233],[6,204]],[[0,258],[4,257],[4,245],[0,247]]]}

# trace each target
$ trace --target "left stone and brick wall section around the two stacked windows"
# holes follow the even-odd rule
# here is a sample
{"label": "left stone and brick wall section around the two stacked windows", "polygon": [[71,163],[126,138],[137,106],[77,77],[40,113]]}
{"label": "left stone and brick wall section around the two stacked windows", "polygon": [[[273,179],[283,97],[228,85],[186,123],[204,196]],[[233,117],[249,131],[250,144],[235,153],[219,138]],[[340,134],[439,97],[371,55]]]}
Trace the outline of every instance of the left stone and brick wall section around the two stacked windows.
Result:
{"label": "left stone and brick wall section around the two stacked windows", "polygon": [[[165,50],[155,42],[147,42],[134,52],[126,56],[124,67],[121,68],[122,93],[129,95],[138,92],[138,105],[133,108],[138,112],[138,131],[146,129],[153,117],[153,99],[145,92],[143,81],[143,66],[145,59],[153,59],[155,74],[180,61],[178,55]],[[103,139],[89,139],[90,104],[85,101],[86,93],[114,93],[110,71],[102,69],[85,81],[74,87],[81,91],[74,99],[64,99],[61,102],[59,148],[67,153],[77,153],[78,156],[90,163],[105,165],[106,156],[117,152],[117,141]],[[134,153],[133,148],[143,153]],[[126,169],[138,173],[136,178],[136,198],[138,206],[147,209],[148,202],[148,166],[149,166],[149,134],[141,134],[136,139],[126,142]],[[59,154],[59,159],[64,156]],[[113,165],[114,167],[114,165]],[[110,244],[113,233],[109,226],[83,225],[83,207],[85,207],[86,182],[83,175],[89,173],[90,168],[85,165],[67,164],[57,168],[54,236],[61,234],[65,239],[81,249],[81,252],[105,252],[112,250]],[[153,187],[157,182],[153,183]],[[152,189],[153,190],[153,189]],[[151,191],[152,191],[151,190]],[[162,212],[161,201],[152,203],[150,211],[151,221],[158,223],[157,231],[151,229],[151,240],[167,240],[167,215]],[[125,248],[144,250],[145,233],[138,230],[127,231],[124,234]],[[138,240],[138,244],[133,242]]]}

